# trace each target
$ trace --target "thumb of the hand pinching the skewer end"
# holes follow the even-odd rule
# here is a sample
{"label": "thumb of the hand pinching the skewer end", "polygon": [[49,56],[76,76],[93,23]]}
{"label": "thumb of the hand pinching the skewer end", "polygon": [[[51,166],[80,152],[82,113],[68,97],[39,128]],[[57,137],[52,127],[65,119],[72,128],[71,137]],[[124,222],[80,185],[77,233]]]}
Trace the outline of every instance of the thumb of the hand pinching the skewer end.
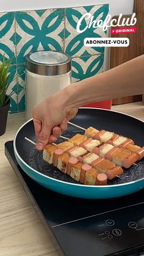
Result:
{"label": "thumb of the hand pinching the skewer end", "polygon": [[48,144],[51,129],[46,123],[43,124],[40,133],[38,134],[36,148],[37,150],[43,150],[46,144]]}

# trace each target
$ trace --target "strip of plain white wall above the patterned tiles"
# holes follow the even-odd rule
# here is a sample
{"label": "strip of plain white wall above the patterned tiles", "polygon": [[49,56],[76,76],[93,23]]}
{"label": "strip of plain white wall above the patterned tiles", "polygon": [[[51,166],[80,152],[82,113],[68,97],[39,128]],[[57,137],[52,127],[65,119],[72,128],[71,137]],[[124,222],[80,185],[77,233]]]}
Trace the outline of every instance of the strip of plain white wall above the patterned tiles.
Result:
{"label": "strip of plain white wall above the patterned tiles", "polygon": [[110,14],[119,15],[120,13],[131,14],[133,2],[134,0],[0,0],[0,12],[109,3]]}

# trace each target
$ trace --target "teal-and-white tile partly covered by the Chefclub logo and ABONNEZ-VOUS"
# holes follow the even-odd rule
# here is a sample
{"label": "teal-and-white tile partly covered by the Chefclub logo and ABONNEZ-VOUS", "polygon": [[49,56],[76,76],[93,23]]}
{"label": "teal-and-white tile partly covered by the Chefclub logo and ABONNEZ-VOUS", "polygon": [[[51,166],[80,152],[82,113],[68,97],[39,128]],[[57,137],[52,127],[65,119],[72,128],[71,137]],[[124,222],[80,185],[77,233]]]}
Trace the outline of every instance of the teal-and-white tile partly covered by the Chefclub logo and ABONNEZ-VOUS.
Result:
{"label": "teal-and-white tile partly covered by the Chefclub logo and ABONNEZ-VOUS", "polygon": [[[86,47],[84,46],[84,38],[86,37],[106,37],[106,32],[103,29],[90,27],[86,31],[79,33],[76,30],[77,22],[85,13],[90,12],[94,16],[93,20],[105,20],[108,12],[109,5],[93,5],[87,7],[74,7],[66,9],[65,28],[70,33],[65,38],[65,52],[73,57],[84,56],[87,49],[90,55],[104,53],[104,47]],[[84,19],[81,24],[81,29],[87,26],[89,20]]]}

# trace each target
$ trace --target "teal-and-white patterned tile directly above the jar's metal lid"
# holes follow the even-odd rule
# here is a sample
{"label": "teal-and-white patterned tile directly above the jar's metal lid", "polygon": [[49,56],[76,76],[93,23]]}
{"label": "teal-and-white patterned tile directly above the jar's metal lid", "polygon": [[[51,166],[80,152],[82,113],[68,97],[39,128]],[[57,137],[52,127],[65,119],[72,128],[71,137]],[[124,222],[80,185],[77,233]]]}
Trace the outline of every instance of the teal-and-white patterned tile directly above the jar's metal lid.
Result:
{"label": "teal-and-white patterned tile directly above the jar's metal lid", "polygon": [[30,51],[63,51],[64,9],[45,12],[16,12],[16,33],[22,39],[16,42],[17,63],[23,64]]}

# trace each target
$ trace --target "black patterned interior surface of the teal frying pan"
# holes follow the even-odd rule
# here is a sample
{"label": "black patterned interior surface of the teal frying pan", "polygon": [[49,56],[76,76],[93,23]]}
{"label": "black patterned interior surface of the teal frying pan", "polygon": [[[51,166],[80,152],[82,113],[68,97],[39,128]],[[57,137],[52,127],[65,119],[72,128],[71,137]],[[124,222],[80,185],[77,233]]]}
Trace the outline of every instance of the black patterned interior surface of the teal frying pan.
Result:
{"label": "black patterned interior surface of the teal frying pan", "polygon": [[[134,140],[136,145],[142,147],[144,145],[144,123],[140,120],[129,117],[121,113],[106,111],[103,109],[79,109],[76,117],[71,122],[76,123],[79,126],[88,128],[93,126],[98,130],[113,131],[123,136],[129,137]],[[72,137],[76,133],[84,134],[84,131],[69,125],[68,130],[63,133],[65,137]],[[29,164],[32,168],[45,174],[49,177],[56,178],[58,180],[67,181],[70,183],[78,183],[69,177],[67,174],[63,174],[56,167],[49,165],[42,158],[42,152],[37,152],[34,145],[27,142],[24,137],[29,137],[32,141],[35,141],[34,125],[33,122],[28,122],[20,130],[16,137],[16,149],[21,158]],[[62,142],[63,139],[59,139],[57,143]],[[129,169],[124,169],[124,174],[120,178],[115,178],[112,181],[108,181],[109,185],[128,183],[134,180],[139,180],[144,177],[144,159],[137,163],[138,166],[132,166]]]}

